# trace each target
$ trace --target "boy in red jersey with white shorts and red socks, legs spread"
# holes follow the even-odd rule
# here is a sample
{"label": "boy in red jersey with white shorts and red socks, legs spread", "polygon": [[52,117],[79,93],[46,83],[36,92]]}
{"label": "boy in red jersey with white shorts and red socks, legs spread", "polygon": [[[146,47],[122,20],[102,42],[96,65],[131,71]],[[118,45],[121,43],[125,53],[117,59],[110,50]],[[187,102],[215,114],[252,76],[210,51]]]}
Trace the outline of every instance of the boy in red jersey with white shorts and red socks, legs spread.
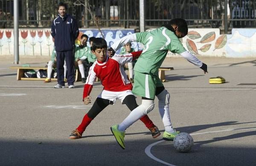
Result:
{"label": "boy in red jersey with white shorts and red socks, legs spread", "polygon": [[[142,51],[133,53],[115,55],[109,58],[107,55],[107,42],[103,38],[96,38],[93,41],[92,53],[96,56],[96,62],[90,67],[86,83],[84,84],[83,101],[87,105],[91,103],[90,92],[93,88],[93,83],[98,77],[103,85],[102,92],[96,98],[93,106],[79,125],[74,130],[70,139],[81,138],[84,130],[90,122],[109,104],[114,104],[116,99],[120,99],[122,104],[126,104],[129,110],[134,110],[138,107],[134,94],[131,92],[132,84],[129,81],[122,64],[131,62],[140,56]],[[151,131],[152,137],[157,138],[160,135],[158,128],[148,118],[147,115],[140,118],[145,126]]]}

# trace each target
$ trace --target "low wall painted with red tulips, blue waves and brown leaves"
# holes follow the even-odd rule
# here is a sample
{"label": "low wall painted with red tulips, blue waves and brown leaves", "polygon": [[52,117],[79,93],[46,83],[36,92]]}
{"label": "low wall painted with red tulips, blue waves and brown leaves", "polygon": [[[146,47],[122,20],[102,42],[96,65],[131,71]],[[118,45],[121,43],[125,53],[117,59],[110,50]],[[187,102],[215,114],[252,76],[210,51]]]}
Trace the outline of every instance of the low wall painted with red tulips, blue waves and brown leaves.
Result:
{"label": "low wall painted with red tulips, blue waves and brown leaves", "polygon": [[[97,29],[79,30],[79,37],[82,34],[102,37]],[[116,40],[133,34],[134,29],[102,29],[102,32],[108,47],[111,47]],[[256,28],[233,28],[232,34],[224,35],[218,28],[190,28],[188,35],[180,41],[188,51],[201,56],[256,57]],[[20,29],[20,56],[50,56],[53,47],[49,28]],[[137,42],[132,42],[132,47],[136,51],[143,49],[143,45]],[[0,56],[13,56],[13,51],[13,29],[0,29]],[[168,55],[175,56],[172,53]]]}

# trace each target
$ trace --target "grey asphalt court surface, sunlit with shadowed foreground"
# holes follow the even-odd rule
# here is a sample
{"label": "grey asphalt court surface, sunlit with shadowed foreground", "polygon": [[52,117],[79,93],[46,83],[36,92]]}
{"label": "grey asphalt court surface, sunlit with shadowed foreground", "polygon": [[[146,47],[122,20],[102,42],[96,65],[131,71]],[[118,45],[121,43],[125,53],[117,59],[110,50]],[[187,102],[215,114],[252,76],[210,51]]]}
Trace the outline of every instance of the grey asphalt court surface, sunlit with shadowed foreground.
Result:
{"label": "grey asphalt court surface, sunlit with shadowed foreground", "polygon": [[[54,89],[56,82],[16,81],[9,69],[12,58],[0,57],[0,165],[86,166],[252,166],[256,165],[256,60],[199,57],[208,65],[204,75],[182,58],[166,58],[164,86],[171,95],[172,124],[195,141],[189,153],[177,152],[172,141],[151,138],[142,122],[126,130],[123,150],[110,127],[128,114],[117,100],[87,127],[81,139],[68,136],[90,109],[82,103],[83,84],[75,89]],[[44,66],[48,58],[21,58]],[[227,83],[209,84],[223,76]],[[93,87],[93,101],[101,92]],[[137,103],[141,99],[137,98]],[[164,132],[157,99],[149,118]]]}

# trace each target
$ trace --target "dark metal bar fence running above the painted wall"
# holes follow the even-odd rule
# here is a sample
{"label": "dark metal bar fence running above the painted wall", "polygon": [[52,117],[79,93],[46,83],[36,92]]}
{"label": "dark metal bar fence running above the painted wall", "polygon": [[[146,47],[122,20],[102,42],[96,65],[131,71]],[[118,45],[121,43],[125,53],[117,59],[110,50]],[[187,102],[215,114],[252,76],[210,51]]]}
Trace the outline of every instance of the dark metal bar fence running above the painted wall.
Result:
{"label": "dark metal bar fence running above the painted wall", "polygon": [[[20,27],[50,27],[60,0],[19,0]],[[87,3],[64,0],[68,13],[79,26],[95,28]],[[102,28],[138,28],[140,0],[89,0],[89,7]],[[190,28],[221,28],[227,32],[233,27],[256,27],[256,0],[144,0],[145,26],[159,27],[172,18],[181,17]],[[13,27],[13,0],[0,0],[0,28]]]}

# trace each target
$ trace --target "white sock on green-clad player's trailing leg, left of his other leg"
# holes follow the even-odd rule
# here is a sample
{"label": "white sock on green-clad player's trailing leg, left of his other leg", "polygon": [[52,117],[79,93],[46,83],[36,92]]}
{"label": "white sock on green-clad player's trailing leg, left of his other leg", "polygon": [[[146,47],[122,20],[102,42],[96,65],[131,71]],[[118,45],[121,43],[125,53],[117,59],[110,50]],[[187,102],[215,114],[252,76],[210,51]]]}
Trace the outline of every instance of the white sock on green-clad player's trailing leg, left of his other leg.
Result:
{"label": "white sock on green-clad player's trailing leg, left of his other leg", "polygon": [[125,120],[118,125],[118,130],[125,131],[134,122],[146,115],[148,106],[150,106],[151,104],[154,104],[154,100],[142,100],[141,105],[132,110],[131,113],[125,118]]}

